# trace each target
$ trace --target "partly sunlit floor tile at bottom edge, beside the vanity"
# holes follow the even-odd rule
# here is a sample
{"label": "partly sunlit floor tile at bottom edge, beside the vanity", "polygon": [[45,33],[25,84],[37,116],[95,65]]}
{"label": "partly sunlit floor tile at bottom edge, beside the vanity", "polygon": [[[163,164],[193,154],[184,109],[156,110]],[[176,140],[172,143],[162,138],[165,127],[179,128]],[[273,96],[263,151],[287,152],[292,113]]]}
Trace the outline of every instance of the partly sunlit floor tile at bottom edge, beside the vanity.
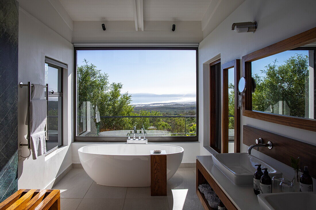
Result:
{"label": "partly sunlit floor tile at bottom edge, beside the vanity", "polygon": [[203,210],[203,206],[198,198],[175,198],[168,199],[170,210]]}

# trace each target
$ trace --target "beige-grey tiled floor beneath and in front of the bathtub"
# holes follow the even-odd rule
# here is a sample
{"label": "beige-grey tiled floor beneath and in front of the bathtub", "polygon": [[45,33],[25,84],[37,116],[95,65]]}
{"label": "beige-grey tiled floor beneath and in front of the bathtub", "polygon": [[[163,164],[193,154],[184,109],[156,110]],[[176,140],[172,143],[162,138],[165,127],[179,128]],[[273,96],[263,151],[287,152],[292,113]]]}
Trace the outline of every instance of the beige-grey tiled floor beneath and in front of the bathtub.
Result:
{"label": "beige-grey tiled floor beneath and in front of the bathtub", "polygon": [[167,196],[150,196],[149,187],[102,186],[73,168],[54,189],[61,190],[62,210],[203,210],[195,182],[195,168],[179,168],[167,182]]}

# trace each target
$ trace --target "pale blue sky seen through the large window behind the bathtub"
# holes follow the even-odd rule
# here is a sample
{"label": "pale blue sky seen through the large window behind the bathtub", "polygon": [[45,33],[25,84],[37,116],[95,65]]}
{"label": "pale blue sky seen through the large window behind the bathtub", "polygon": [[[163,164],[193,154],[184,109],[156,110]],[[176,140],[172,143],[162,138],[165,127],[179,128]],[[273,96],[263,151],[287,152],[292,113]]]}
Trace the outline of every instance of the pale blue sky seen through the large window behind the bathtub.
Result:
{"label": "pale blue sky seen through the large window behind the bathtub", "polygon": [[196,93],[195,50],[78,50],[77,64],[84,59],[121,82],[123,93]]}

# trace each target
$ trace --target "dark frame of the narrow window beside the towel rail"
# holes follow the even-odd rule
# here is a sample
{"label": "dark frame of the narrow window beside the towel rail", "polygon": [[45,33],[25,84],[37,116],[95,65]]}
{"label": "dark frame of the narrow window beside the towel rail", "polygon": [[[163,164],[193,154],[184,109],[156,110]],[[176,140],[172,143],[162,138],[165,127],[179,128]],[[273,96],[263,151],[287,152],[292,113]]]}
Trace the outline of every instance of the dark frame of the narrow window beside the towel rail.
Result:
{"label": "dark frame of the narrow window beside the towel rail", "polygon": [[[49,103],[49,98],[50,97],[61,97],[61,145],[57,145],[50,150],[47,150],[47,152],[55,150],[57,148],[60,148],[64,146],[64,69],[67,69],[67,65],[64,63],[61,63],[57,60],[53,60],[51,58],[45,57],[45,64],[48,64],[54,68],[60,68],[61,69],[61,77],[60,77],[60,84],[61,84],[61,92],[54,92],[53,94],[51,92],[48,93],[48,103]],[[65,68],[66,67],[66,68]],[[49,85],[49,84],[48,84]],[[49,87],[49,86],[48,86]],[[49,91],[49,90],[48,90]],[[49,116],[47,116],[49,117]],[[48,123],[48,121],[47,121]],[[49,137],[49,133],[48,133]],[[49,138],[48,138],[49,141]]]}

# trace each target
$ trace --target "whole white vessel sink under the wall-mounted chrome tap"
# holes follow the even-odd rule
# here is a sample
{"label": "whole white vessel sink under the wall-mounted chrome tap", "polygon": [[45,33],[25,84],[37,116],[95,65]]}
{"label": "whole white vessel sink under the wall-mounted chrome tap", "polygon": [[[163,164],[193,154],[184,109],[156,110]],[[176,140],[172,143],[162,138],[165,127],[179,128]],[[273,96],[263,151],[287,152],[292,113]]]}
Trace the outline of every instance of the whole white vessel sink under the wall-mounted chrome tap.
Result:
{"label": "whole white vessel sink under the wall-mounted chrome tap", "polygon": [[277,171],[268,163],[247,153],[212,154],[212,159],[222,173],[236,185],[252,185],[253,174],[257,170],[255,165],[257,164],[261,164],[261,168],[268,168],[271,178],[273,176],[282,176],[280,171]]}

